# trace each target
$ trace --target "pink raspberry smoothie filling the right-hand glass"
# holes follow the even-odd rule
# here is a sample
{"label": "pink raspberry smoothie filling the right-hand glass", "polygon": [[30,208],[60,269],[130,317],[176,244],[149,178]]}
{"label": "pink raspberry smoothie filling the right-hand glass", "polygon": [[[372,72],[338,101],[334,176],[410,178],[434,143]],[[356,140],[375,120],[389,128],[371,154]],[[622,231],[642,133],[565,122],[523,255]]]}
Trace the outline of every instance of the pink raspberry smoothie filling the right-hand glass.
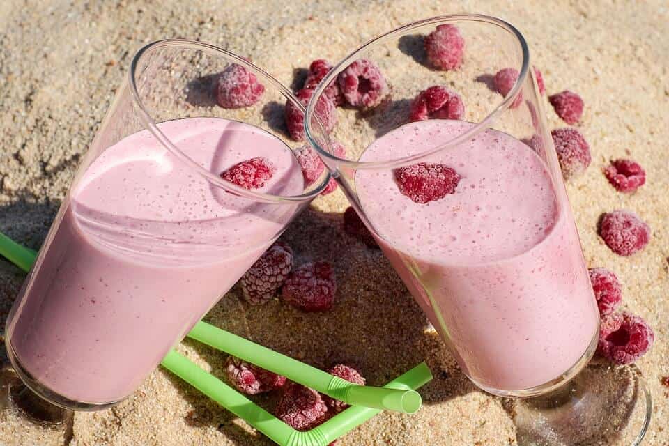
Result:
{"label": "pink raspberry smoothie filling the right-hand glass", "polygon": [[[360,161],[421,153],[471,125],[410,123]],[[426,204],[401,194],[390,170],[355,174],[386,256],[475,383],[503,393],[560,377],[588,350],[599,314],[569,206],[544,162],[494,130],[429,162],[462,178]]]}

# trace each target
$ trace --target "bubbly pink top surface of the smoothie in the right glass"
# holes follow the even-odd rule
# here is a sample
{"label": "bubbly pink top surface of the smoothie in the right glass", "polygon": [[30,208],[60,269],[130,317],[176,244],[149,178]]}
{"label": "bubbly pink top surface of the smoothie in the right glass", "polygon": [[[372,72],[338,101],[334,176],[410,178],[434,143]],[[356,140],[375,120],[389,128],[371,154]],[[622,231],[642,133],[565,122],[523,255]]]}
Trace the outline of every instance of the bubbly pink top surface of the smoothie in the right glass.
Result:
{"label": "bubbly pink top surface of the smoothie in the right glass", "polygon": [[[470,127],[461,121],[407,124],[374,141],[360,161],[421,153]],[[509,135],[486,130],[429,162],[452,167],[461,180],[454,194],[421,205],[399,192],[392,170],[357,172],[364,211],[397,215],[374,222],[395,245],[445,263],[484,263],[527,251],[553,228],[558,207],[546,167]]]}

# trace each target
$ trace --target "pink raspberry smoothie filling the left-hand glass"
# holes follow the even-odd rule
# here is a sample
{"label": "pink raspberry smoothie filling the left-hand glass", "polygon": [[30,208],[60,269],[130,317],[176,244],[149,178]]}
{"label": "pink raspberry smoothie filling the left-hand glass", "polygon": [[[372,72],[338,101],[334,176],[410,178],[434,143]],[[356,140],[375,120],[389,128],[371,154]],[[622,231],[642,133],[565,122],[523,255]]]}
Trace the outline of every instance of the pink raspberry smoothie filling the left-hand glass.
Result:
{"label": "pink raspberry smoothie filling the left-hand glass", "polygon": [[[259,192],[304,190],[289,148],[258,128],[217,118],[159,127],[216,174],[261,156],[276,172]],[[210,186],[147,131],[119,141],[63,204],[13,309],[8,332],[20,366],[73,401],[128,397],[297,206],[254,203]]]}

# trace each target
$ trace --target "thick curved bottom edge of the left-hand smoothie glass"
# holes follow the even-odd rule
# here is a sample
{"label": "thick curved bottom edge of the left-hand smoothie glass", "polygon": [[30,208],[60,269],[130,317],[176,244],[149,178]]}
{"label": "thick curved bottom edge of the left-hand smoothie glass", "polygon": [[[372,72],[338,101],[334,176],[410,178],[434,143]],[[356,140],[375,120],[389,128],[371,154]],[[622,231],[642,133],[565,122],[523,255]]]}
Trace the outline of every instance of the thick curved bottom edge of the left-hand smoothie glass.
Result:
{"label": "thick curved bottom edge of the left-hand smoothie glass", "polygon": [[[37,378],[32,376],[30,372],[27,371],[25,367],[23,367],[23,364],[21,364],[21,361],[14,351],[9,337],[5,338],[5,346],[7,348],[7,356],[12,363],[12,373],[15,374],[15,376],[17,376],[17,378],[19,378],[19,380],[22,382],[26,392],[31,391],[30,393],[33,393],[36,399],[43,400],[43,403],[49,406],[56,406],[56,408],[61,408],[68,411],[77,410],[92,412],[94,410],[103,410],[112,407],[118,402],[122,401],[112,401],[109,403],[87,403],[85,401],[75,401],[67,397],[63,397],[61,394],[54,392],[53,390],[49,389],[49,387],[46,387],[40,383]],[[0,382],[0,385],[3,385],[3,382]]]}

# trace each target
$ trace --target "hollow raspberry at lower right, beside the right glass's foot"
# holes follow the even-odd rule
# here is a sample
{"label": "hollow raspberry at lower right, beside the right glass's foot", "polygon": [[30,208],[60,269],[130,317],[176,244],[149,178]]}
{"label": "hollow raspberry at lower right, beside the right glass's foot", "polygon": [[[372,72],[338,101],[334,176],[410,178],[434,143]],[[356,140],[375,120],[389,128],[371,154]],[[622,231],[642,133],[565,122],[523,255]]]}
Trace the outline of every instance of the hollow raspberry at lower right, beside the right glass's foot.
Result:
{"label": "hollow raspberry at lower right, beside the right glass's foot", "polygon": [[611,313],[601,319],[597,353],[615,364],[631,364],[653,345],[655,334],[639,316]]}

